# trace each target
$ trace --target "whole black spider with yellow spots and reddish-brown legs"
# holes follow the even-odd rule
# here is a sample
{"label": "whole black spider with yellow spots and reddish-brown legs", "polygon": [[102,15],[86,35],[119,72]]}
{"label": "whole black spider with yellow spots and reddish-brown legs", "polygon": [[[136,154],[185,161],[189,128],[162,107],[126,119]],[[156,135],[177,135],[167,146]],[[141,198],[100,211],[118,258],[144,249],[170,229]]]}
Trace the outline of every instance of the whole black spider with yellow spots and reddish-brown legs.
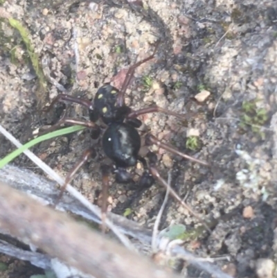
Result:
{"label": "whole black spider with yellow spots and reddish-brown legs", "polygon": [[[51,130],[62,124],[82,125],[91,129],[91,137],[93,139],[98,139],[101,134],[101,129],[96,121],[101,119],[102,122],[107,125],[104,134],[102,134],[102,148],[105,155],[107,155],[107,157],[109,157],[109,159],[114,162],[114,165],[111,166],[108,164],[102,164],[100,166],[102,173],[102,213],[107,211],[109,174],[113,173],[115,175],[116,182],[118,183],[134,182],[132,179],[132,174],[127,171],[127,168],[135,166],[138,161],[143,164],[143,174],[141,175],[141,178],[137,184],[138,186],[150,187],[152,184],[154,184],[155,179],[163,184],[163,186],[168,186],[166,180],[163,180],[157,170],[157,155],[151,151],[149,151],[146,155],[146,159],[145,157],[141,157],[141,155],[139,155],[139,150],[141,148],[141,136],[137,128],[141,126],[142,122],[137,118],[138,116],[152,112],[163,112],[171,116],[176,116],[179,119],[184,119],[184,115],[182,116],[175,112],[171,112],[157,105],[145,107],[140,110],[132,110],[131,107],[125,105],[124,99],[126,89],[134,75],[135,69],[141,64],[152,60],[157,52],[158,46],[159,43],[156,45],[152,55],[150,55],[148,58],[136,62],[136,64],[129,67],[120,90],[107,83],[98,89],[93,102],[89,101],[87,98],[73,97],[68,94],[58,94],[52,103],[46,107],[46,109],[44,109],[44,112],[48,112],[57,102],[69,102],[80,104],[89,110],[89,121],[67,118],[64,114],[60,121],[50,128]],[[190,157],[184,153],[181,153],[172,146],[164,144],[159,139],[157,139],[157,137],[154,137],[154,135],[150,133],[146,134],[145,145],[151,146],[153,144],[156,144],[159,146],[159,148],[168,150],[170,153],[208,166],[206,162],[203,162],[194,157]],[[93,148],[93,146],[90,146],[84,151],[80,160],[66,175],[64,186],[62,186],[60,196],[57,198],[57,201],[62,197],[62,193],[66,188],[66,184],[71,182],[73,175],[75,175],[78,169],[85,162],[87,162],[89,157],[96,157],[96,150]],[[179,202],[182,202],[175,191],[170,189],[170,193],[172,196],[177,198]],[[55,204],[57,204],[57,202]]]}

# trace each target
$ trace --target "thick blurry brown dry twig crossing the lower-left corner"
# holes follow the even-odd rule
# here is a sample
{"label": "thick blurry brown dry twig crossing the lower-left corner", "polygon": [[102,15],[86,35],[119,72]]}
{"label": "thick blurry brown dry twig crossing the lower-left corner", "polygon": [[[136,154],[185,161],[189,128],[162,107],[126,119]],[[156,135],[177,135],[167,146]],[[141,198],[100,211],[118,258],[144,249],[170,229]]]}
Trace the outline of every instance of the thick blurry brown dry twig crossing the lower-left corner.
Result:
{"label": "thick blurry brown dry twig crossing the lower-left corner", "polygon": [[0,227],[51,257],[96,277],[178,277],[3,182]]}

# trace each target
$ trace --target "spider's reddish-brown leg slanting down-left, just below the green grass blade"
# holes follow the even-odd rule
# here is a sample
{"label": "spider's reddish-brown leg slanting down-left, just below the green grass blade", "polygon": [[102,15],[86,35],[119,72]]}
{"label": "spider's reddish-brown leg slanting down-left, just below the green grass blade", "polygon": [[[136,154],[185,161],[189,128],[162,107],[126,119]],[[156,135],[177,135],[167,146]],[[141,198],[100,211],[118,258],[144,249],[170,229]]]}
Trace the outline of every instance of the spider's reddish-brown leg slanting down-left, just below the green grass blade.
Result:
{"label": "spider's reddish-brown leg slanting down-left, just below the green grass blade", "polygon": [[64,193],[64,191],[66,189],[66,185],[71,182],[75,173],[84,165],[85,162],[87,162],[89,157],[96,157],[96,151],[93,148],[89,148],[89,149],[85,150],[82,157],[80,158],[80,160],[74,165],[72,170],[66,175],[64,184],[62,185],[62,188],[60,189],[60,194],[54,203],[54,207],[56,207],[58,202],[60,202],[60,199],[62,198],[62,194]]}

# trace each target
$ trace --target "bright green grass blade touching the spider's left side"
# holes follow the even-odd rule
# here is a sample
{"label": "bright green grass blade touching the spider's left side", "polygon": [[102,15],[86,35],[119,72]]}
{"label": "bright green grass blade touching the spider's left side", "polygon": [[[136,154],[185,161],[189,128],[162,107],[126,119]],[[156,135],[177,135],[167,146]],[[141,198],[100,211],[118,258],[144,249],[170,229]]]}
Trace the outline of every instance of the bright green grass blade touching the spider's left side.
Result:
{"label": "bright green grass blade touching the spider's left side", "polygon": [[5,166],[9,162],[11,162],[12,159],[15,159],[15,157],[18,157],[19,155],[21,155],[21,153],[23,153],[24,150],[27,150],[28,148],[31,148],[31,147],[35,146],[36,144],[39,144],[42,141],[46,141],[46,140],[54,138],[54,137],[62,136],[64,134],[77,132],[79,130],[83,130],[84,128],[85,127],[81,126],[81,125],[73,125],[69,128],[62,128],[61,130],[55,130],[53,132],[49,132],[48,134],[44,134],[40,137],[37,137],[37,138],[29,141],[28,143],[24,144],[20,148],[17,148],[17,150],[14,150],[12,153],[10,153],[9,155],[7,155],[3,159],[1,159],[0,160],[0,168],[3,168],[3,166]]}

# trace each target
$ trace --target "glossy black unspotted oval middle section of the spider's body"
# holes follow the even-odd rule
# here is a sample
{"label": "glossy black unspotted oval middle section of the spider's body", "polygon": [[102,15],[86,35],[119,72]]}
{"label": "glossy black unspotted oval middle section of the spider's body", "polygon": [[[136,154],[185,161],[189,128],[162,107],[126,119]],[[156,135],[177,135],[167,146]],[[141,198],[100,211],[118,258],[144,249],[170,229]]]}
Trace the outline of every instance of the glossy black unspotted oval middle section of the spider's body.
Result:
{"label": "glossy black unspotted oval middle section of the spider's body", "polygon": [[111,123],[103,134],[102,147],[116,166],[134,166],[141,148],[141,137],[136,128],[127,123]]}

